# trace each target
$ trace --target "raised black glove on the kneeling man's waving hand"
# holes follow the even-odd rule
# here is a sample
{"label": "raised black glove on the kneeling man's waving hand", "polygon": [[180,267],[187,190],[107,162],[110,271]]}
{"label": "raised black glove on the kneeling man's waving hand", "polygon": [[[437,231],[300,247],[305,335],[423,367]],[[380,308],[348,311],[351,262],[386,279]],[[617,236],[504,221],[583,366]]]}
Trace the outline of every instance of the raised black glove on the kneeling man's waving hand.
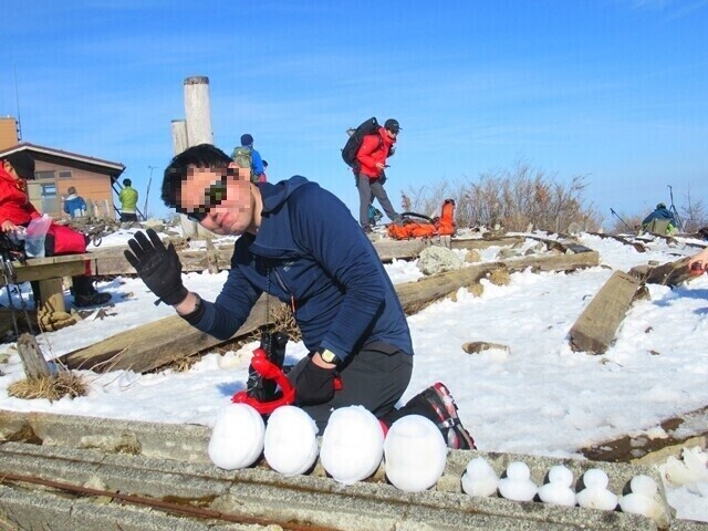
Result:
{"label": "raised black glove on the kneeling man's waving hand", "polygon": [[147,236],[136,232],[128,240],[131,251],[124,251],[125,258],[135,268],[145,285],[165,304],[179,304],[189,293],[181,283],[181,262],[171,243],[165,248],[153,229]]}

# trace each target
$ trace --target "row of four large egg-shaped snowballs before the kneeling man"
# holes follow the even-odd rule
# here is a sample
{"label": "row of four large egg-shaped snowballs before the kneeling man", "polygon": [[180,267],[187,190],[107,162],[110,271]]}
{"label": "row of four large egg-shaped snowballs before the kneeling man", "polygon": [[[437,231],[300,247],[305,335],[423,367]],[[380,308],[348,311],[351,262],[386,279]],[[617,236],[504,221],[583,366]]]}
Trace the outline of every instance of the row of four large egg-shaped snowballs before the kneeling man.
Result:
{"label": "row of four large egg-shaped snowballs before the kneeling man", "polygon": [[[261,452],[268,465],[284,476],[304,473],[317,458],[317,427],[294,406],[275,409],[268,419],[248,404],[231,404],[216,419],[209,458],[219,468],[250,467]],[[320,448],[320,462],[344,485],[368,478],[386,461],[386,477],[406,492],[433,487],[445,470],[447,445],[429,419],[408,415],[396,420],[384,440],[378,419],[362,406],[336,409],[330,417]]]}

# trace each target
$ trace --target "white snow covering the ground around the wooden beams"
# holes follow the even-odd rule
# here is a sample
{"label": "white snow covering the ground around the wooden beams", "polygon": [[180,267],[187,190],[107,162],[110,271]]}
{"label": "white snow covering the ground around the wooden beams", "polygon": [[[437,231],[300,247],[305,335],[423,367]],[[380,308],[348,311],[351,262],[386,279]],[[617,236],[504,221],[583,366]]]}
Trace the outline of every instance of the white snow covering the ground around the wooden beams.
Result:
{"label": "white snow covering the ground around the wooden beams", "polygon": [[[131,233],[106,237],[103,246],[125,243]],[[440,301],[410,316],[416,362],[403,402],[444,382],[480,450],[556,457],[580,457],[580,448],[624,434],[660,436],[660,420],[708,405],[708,275],[675,289],[649,285],[650,300],[632,306],[605,355],[573,352],[568,341],[570,327],[613,270],[663,263],[698,249],[658,240],[639,253],[613,239],[582,235],[580,240],[600,252],[601,267],[572,274],[518,272],[508,285],[483,281],[479,298],[460,290],[455,302]],[[534,244],[528,239],[525,247]],[[498,251],[486,249],[482,259],[496,260]],[[395,283],[421,277],[415,262],[395,261],[386,270]],[[226,274],[190,273],[185,283],[212,300]],[[154,295],[139,280],[116,279],[100,289],[113,294],[108,315],[40,335],[48,357],[173,315],[171,309],[153,304]],[[466,354],[461,345],[470,341],[502,343],[510,351]],[[0,365],[0,408],[212,426],[243,387],[254,346],[209,354],[183,373],[84,372],[88,396],[49,403],[8,396],[7,387],[24,375],[14,345],[6,343],[0,345],[0,356],[9,354]],[[288,346],[290,362],[303,355],[302,344]],[[685,486],[668,485],[668,497],[679,518],[708,521],[708,454],[698,456],[702,481],[698,476]]]}

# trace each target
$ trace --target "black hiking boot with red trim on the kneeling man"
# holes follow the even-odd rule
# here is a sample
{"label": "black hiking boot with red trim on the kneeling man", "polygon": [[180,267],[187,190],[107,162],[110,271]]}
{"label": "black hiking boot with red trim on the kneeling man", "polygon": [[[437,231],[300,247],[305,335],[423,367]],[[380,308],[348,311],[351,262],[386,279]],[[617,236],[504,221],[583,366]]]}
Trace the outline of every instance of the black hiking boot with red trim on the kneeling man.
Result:
{"label": "black hiking boot with red trim on the kneeling man", "polygon": [[456,450],[473,450],[475,439],[465,429],[457,415],[457,404],[448,388],[437,382],[423,393],[417,394],[398,409],[398,416],[423,415],[438,427],[448,448]]}

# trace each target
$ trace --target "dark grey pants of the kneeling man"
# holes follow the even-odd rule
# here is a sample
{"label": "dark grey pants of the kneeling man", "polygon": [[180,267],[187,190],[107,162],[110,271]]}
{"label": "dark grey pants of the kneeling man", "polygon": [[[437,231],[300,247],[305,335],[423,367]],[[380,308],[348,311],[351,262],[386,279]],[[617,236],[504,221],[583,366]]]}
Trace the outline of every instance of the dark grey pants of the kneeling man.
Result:
{"label": "dark grey pants of the kneeling man", "polygon": [[[395,412],[394,406],[410,382],[413,356],[399,350],[384,350],[389,353],[366,346],[352,354],[340,367],[342,389],[334,393],[334,398],[316,406],[302,407],[317,424],[320,435],[332,412],[340,407],[364,406],[377,418],[384,419]],[[304,357],[290,371],[288,377],[291,382],[308,363],[311,363],[310,357]]]}

